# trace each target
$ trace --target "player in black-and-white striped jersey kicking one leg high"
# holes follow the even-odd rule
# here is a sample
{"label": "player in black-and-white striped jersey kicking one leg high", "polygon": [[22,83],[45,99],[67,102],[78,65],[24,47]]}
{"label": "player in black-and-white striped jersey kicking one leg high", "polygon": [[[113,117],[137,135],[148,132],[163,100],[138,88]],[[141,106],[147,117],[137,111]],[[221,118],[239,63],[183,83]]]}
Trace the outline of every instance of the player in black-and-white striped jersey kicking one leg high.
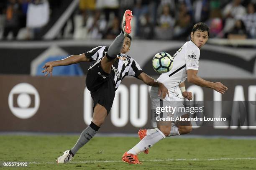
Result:
{"label": "player in black-and-white striped jersey kicking one leg high", "polygon": [[[115,38],[109,48],[99,46],[91,51],[80,55],[72,55],[63,60],[51,61],[43,68],[45,76],[52,74],[53,67],[64,66],[82,61],[94,63],[90,66],[86,77],[86,86],[90,90],[93,99],[93,117],[91,124],[81,133],[77,143],[71,150],[64,152],[56,161],[57,163],[67,163],[72,160],[77,151],[89,142],[98,132],[100,126],[105,121],[113,104],[115,90],[118,89],[121,80],[125,76],[134,76],[141,79],[149,86],[159,87],[159,96],[165,98],[168,94],[164,84],[155,81],[153,78],[143,73],[138,63],[130,56],[125,55],[131,46],[131,19],[132,12],[126,10],[123,16],[122,33]],[[168,94],[169,95],[169,94]]]}

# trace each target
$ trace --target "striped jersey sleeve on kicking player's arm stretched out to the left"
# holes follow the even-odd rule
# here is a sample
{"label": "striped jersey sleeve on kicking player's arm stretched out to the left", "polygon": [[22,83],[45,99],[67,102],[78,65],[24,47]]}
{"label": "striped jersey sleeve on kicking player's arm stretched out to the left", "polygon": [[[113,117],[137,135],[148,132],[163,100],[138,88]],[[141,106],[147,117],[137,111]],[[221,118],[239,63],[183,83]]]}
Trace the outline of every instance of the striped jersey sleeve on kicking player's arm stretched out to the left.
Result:
{"label": "striped jersey sleeve on kicking player's arm stretched out to the left", "polygon": [[90,58],[91,61],[97,61],[98,59],[105,56],[105,51],[107,47],[105,46],[98,46],[93,48],[91,51],[87,51],[84,53],[85,57]]}

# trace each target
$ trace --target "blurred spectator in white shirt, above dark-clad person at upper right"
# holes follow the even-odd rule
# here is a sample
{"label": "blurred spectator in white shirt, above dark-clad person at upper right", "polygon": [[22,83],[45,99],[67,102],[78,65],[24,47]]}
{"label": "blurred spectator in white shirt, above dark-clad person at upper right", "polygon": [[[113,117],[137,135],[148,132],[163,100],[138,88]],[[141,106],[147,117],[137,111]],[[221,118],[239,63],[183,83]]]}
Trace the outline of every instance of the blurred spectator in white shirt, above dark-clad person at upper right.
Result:
{"label": "blurred spectator in white shirt, above dark-clad person at upper right", "polygon": [[230,32],[234,28],[236,20],[241,19],[245,14],[246,9],[241,5],[241,0],[233,0],[226,5],[223,10],[223,19],[225,20],[223,33]]}

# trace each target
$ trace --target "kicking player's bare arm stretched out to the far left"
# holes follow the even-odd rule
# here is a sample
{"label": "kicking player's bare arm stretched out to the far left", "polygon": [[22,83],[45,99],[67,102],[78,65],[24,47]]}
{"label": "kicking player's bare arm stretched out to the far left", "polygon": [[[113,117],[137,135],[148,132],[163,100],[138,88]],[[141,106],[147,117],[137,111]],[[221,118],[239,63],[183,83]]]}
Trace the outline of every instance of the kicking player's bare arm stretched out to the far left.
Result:
{"label": "kicking player's bare arm stretched out to the far left", "polygon": [[50,74],[50,76],[52,76],[53,67],[67,66],[67,65],[71,65],[71,64],[80,63],[82,61],[91,61],[91,59],[87,58],[84,54],[79,54],[79,55],[69,56],[62,60],[50,61],[50,62],[45,63],[45,65],[43,66],[44,70],[42,71],[42,73],[46,72],[46,74],[44,76],[48,76],[48,74]]}

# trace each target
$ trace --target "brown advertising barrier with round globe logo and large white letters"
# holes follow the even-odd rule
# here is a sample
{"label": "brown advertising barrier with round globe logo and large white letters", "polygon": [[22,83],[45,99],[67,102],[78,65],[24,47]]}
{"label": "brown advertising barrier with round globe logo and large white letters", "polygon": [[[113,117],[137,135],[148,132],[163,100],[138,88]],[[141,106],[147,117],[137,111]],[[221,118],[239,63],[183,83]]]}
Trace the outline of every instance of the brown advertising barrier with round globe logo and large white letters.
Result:
{"label": "brown advertising barrier with round globe logo and large white letters", "polygon": [[[194,125],[202,126],[195,126],[191,134],[255,135],[256,81],[218,81],[228,86],[226,94],[186,83],[187,90],[193,92],[197,101],[207,104],[215,100],[212,103],[215,107],[207,108],[205,115],[227,118],[232,115],[232,120],[220,124],[197,122]],[[0,94],[0,132],[81,132],[91,121],[92,99],[85,88],[84,76],[0,75]],[[100,132],[136,133],[141,127],[152,127],[148,86],[128,77],[116,91],[112,110]]]}

